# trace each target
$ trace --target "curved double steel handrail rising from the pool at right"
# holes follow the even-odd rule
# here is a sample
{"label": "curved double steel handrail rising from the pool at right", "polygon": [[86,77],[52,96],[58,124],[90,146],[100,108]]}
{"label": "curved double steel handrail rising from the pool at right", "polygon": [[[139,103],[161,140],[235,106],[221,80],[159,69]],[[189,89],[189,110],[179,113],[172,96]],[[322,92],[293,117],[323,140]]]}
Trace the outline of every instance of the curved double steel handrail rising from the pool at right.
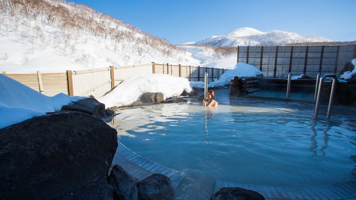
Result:
{"label": "curved double steel handrail rising from the pool at right", "polygon": [[320,96],[321,96],[321,90],[322,90],[322,83],[324,82],[324,78],[325,77],[333,78],[333,85],[331,87],[327,119],[330,119],[330,116],[331,116],[331,108],[333,107],[334,95],[335,95],[335,89],[336,89],[336,84],[335,83],[337,82],[338,78],[337,78],[337,76],[335,76],[335,74],[323,74],[323,75],[321,75],[320,81],[319,81],[319,90],[318,90],[318,96],[316,98],[314,119],[318,118],[318,112],[319,112],[319,106],[320,106]]}

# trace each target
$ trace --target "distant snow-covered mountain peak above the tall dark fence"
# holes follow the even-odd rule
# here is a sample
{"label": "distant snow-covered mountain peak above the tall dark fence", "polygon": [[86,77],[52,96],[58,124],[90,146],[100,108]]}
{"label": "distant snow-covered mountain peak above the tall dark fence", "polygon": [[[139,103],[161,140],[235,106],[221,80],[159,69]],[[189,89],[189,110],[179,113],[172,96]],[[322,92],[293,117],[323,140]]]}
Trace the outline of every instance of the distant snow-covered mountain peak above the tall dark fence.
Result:
{"label": "distant snow-covered mountain peak above the tall dark fence", "polygon": [[235,29],[222,36],[211,36],[198,42],[189,44],[203,44],[217,47],[257,46],[257,45],[283,45],[303,42],[332,42],[327,38],[318,36],[303,36],[294,32],[273,30],[262,32],[254,28],[243,27]]}

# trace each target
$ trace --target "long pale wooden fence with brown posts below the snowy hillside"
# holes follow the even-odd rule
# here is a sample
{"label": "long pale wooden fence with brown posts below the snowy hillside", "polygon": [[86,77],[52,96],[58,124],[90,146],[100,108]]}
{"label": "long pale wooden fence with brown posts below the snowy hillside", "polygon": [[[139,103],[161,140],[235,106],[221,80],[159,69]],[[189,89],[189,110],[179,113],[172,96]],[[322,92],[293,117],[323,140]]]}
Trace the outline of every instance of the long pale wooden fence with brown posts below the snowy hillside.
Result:
{"label": "long pale wooden fence with brown posts below the snowy hillside", "polygon": [[169,63],[148,63],[129,66],[67,71],[66,73],[41,74],[2,74],[48,96],[65,93],[70,96],[93,95],[101,97],[110,92],[122,81],[143,74],[169,74],[187,78],[189,81],[203,81],[204,72],[209,73],[208,82],[218,79],[226,70],[202,68],[191,65]]}

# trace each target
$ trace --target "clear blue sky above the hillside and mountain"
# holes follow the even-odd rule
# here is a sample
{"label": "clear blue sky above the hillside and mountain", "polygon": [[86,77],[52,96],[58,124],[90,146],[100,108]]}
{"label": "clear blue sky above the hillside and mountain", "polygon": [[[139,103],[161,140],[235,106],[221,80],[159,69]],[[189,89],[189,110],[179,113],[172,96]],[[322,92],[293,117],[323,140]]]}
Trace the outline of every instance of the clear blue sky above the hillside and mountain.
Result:
{"label": "clear blue sky above the hillside and mountain", "polygon": [[[68,1],[68,0],[67,0]],[[356,0],[74,0],[171,44],[196,42],[236,28],[283,30],[333,41],[356,40]]]}

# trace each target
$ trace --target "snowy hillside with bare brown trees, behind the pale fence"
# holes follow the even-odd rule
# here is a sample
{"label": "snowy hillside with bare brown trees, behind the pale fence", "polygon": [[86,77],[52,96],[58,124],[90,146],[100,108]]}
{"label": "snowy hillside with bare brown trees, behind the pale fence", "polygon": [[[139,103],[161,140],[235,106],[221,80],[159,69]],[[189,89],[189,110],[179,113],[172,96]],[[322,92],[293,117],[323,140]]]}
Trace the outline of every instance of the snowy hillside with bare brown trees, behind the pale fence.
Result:
{"label": "snowy hillside with bare brown trees, behind the pale fence", "polygon": [[199,65],[165,39],[82,4],[0,1],[0,71],[64,73],[140,63]]}

